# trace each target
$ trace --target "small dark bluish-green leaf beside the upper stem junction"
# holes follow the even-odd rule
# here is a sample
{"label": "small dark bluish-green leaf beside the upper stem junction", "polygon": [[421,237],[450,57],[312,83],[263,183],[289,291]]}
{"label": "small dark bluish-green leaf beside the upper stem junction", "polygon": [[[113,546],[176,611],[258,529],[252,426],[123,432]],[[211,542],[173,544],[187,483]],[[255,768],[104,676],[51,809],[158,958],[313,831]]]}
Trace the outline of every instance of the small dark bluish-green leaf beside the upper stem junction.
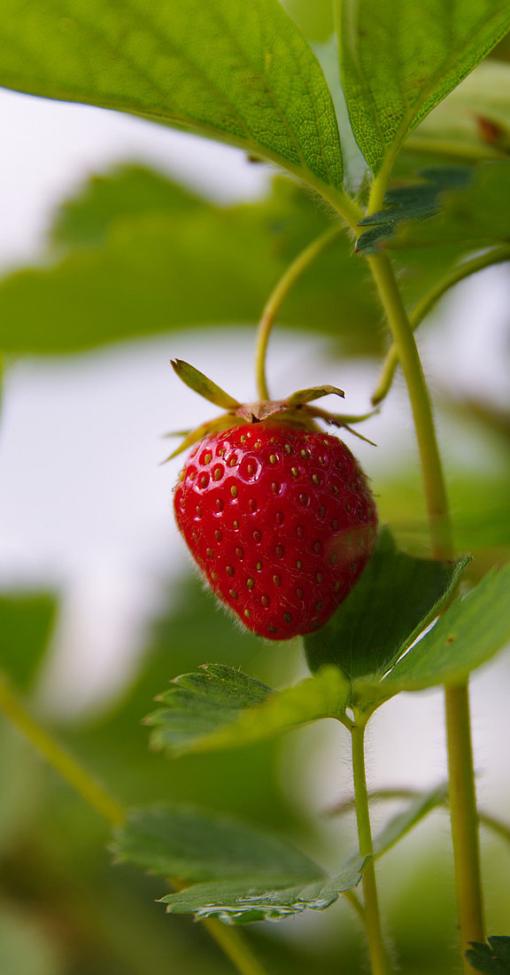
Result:
{"label": "small dark bluish-green leaf beside the upper stem junction", "polygon": [[[442,166],[422,170],[423,182],[410,186],[395,186],[384,196],[384,210],[359,221],[364,230],[356,241],[359,254],[377,254],[386,238],[392,237],[403,224],[421,222],[437,214],[441,208],[441,194],[449,189],[468,186],[473,179],[472,167]],[[441,241],[439,242],[441,243]]]}

